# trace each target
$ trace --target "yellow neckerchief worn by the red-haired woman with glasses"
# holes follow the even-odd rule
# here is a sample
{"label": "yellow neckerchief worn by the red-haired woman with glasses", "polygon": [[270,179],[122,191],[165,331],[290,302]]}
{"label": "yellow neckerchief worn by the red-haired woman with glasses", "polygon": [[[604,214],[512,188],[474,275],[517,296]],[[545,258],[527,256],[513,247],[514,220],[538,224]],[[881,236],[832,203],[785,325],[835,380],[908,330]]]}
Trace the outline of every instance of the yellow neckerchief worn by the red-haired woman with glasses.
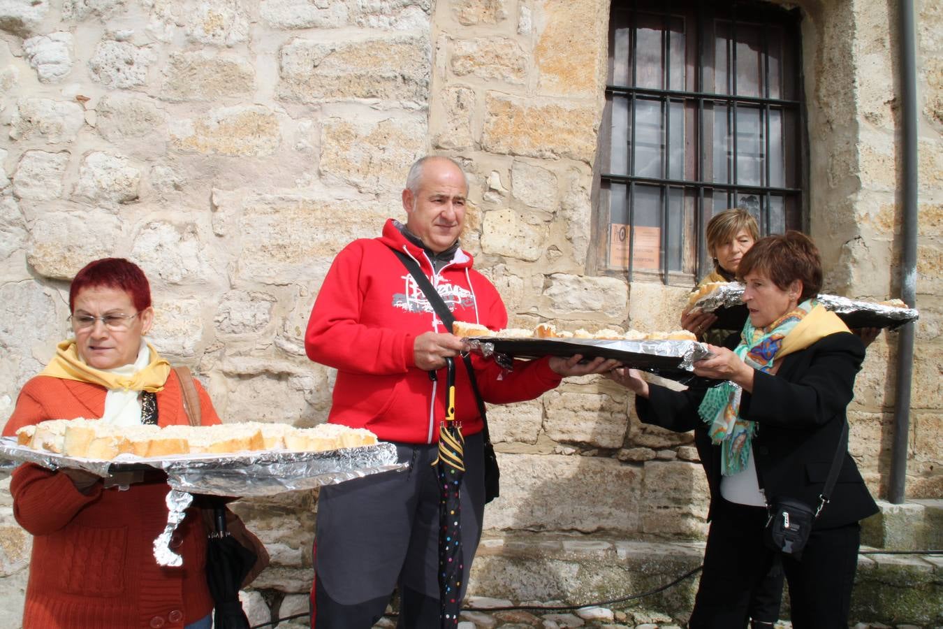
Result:
{"label": "yellow neckerchief worn by the red-haired woman with glasses", "polygon": [[143,390],[156,393],[164,388],[167,376],[171,373],[171,364],[161,358],[150,343],[147,344],[147,347],[151,350],[151,363],[132,376],[124,376],[90,367],[78,356],[74,339],[63,340],[56,346],[56,356],[53,356],[53,359],[49,361],[49,364],[46,365],[40,375],[88,382],[92,385],[101,385],[109,390]]}

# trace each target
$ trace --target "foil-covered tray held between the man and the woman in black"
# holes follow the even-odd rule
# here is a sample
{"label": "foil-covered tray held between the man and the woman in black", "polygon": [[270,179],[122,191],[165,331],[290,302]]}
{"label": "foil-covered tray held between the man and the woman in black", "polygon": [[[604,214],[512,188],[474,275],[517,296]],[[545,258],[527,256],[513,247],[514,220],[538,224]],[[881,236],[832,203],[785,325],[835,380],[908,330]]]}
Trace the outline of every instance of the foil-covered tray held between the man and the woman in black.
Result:
{"label": "foil-covered tray held between the man and the woman in black", "polygon": [[693,363],[711,356],[707,346],[696,340],[617,340],[617,339],[502,339],[472,337],[466,339],[472,349],[484,356],[494,356],[510,367],[509,356],[574,356],[613,358],[625,367],[652,372],[687,383],[694,378]]}

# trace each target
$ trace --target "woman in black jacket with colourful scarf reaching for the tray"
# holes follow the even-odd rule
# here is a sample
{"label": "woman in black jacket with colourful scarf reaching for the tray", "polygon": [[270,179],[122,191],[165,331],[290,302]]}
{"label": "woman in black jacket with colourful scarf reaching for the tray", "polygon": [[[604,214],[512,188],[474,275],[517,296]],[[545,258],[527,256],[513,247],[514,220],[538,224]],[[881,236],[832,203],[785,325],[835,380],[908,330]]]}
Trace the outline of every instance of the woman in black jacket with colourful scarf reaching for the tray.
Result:
{"label": "woman in black jacket with colourful scarf reaching for the tray", "polygon": [[860,538],[858,521],[877,512],[839,440],[864,346],[815,300],[819,252],[799,232],[757,240],[740,260],[750,310],[738,342],[711,345],[695,373],[723,380],[711,389],[672,391],[635,370],[612,378],[636,393],[642,422],[695,431],[710,486],[711,521],[701,585],[688,626],[747,624],[753,588],[773,561],[763,542],[766,505],[777,498],[815,508],[835,450],[844,451],[831,501],[814,522],[801,557],[781,555],[796,629],[848,626]]}

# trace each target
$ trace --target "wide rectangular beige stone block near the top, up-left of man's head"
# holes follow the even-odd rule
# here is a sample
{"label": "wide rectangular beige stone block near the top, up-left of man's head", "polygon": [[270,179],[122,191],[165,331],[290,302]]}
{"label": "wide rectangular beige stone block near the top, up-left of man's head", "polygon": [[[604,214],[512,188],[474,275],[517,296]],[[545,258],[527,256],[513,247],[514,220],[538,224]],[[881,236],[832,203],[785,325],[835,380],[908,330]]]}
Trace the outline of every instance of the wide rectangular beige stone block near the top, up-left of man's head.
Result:
{"label": "wide rectangular beige stone block near the top, up-left of man's head", "polygon": [[424,37],[293,40],[279,53],[277,96],[301,103],[362,98],[424,105],[431,57]]}

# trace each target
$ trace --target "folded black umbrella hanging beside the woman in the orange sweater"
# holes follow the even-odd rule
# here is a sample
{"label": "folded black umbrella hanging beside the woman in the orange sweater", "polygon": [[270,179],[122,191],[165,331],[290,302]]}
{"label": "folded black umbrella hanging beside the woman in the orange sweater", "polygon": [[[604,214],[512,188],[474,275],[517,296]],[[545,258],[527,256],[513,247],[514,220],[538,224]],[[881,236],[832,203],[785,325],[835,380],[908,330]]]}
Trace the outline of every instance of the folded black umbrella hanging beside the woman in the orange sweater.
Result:
{"label": "folded black umbrella hanging beside the woman in the orange sweater", "polygon": [[256,554],[226,530],[226,510],[213,508],[216,530],[207,541],[207,585],[215,603],[214,629],[249,629],[239,600],[242,580],[256,564]]}

